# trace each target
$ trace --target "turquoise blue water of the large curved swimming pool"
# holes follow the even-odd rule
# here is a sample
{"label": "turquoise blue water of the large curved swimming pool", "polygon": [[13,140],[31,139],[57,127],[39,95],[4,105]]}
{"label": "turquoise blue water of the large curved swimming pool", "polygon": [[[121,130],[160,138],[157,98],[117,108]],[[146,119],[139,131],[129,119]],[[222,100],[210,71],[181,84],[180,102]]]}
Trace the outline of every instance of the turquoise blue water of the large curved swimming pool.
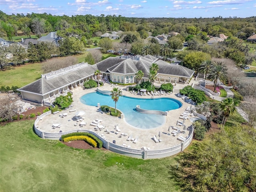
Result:
{"label": "turquoise blue water of the large curved swimming pool", "polygon": [[[80,98],[80,101],[90,106],[97,106],[100,103],[101,106],[115,107],[115,102],[111,99],[111,96],[98,92],[85,94]],[[180,108],[182,103],[172,98],[145,99],[127,96],[119,97],[116,108],[124,113],[126,122],[137,128],[150,129],[164,124],[166,120],[165,116],[139,113],[135,110],[136,105],[140,105],[140,108],[147,110],[169,111]]]}

